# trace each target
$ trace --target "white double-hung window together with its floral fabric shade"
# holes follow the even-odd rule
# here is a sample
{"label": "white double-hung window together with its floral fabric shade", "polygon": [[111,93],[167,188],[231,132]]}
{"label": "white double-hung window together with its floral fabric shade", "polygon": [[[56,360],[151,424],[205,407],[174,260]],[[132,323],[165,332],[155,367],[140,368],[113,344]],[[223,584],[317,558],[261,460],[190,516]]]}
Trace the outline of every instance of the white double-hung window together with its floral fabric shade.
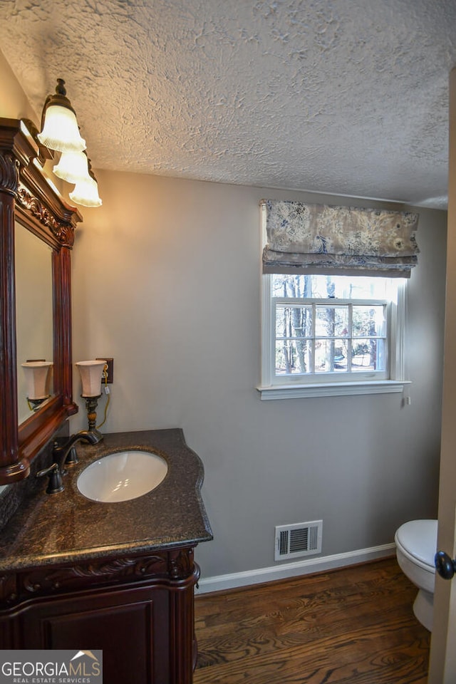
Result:
{"label": "white double-hung window together with its floral fabric shade", "polygon": [[261,399],[402,392],[418,214],[263,199]]}

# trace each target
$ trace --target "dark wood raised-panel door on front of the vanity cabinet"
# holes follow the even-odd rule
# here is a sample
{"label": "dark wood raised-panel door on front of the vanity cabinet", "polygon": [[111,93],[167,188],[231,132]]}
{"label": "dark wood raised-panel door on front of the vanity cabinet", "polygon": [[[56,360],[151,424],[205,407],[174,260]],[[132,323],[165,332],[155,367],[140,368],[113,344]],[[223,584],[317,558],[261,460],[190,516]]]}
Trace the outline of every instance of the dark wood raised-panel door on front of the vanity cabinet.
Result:
{"label": "dark wood raised-panel door on front of the vanity cabinet", "polygon": [[43,599],[21,614],[22,648],[100,649],[108,684],[169,684],[168,613],[160,587]]}

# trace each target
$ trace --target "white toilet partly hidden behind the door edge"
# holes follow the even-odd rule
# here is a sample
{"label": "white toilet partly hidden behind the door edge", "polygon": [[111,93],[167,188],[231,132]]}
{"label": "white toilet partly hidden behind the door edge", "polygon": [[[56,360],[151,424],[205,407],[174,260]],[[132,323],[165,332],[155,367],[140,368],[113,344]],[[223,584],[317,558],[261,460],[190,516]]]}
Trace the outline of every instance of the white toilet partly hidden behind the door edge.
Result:
{"label": "white toilet partly hidden behind the door edge", "polygon": [[432,631],[437,520],[405,522],[396,532],[394,541],[400,569],[420,590],[413,603],[415,617]]}

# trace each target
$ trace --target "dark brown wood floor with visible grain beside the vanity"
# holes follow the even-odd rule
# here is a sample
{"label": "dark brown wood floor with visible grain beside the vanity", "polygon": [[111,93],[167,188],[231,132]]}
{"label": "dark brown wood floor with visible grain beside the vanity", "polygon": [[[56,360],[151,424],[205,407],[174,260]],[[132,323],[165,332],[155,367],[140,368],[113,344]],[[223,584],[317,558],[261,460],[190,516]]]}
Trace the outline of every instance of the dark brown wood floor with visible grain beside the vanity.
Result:
{"label": "dark brown wood floor with visible grain beside the vanity", "polygon": [[426,684],[415,595],[385,559],[197,596],[194,684]]}

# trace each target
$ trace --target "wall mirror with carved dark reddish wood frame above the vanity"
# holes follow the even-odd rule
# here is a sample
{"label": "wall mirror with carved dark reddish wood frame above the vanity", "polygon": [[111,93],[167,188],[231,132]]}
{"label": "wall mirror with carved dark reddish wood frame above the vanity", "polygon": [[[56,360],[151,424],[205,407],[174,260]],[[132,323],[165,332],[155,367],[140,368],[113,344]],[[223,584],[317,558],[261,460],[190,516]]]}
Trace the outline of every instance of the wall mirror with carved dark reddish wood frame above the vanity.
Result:
{"label": "wall mirror with carved dark reddish wood frame above the vanity", "polygon": [[[0,484],[27,477],[33,457],[78,410],[72,398],[71,249],[82,218],[44,174],[42,162],[49,155],[38,145],[31,122],[0,118]],[[33,260],[44,264],[40,276],[31,269],[24,275],[27,266],[19,256],[24,243]],[[43,281],[38,300],[43,314],[36,317],[34,311],[32,321],[24,290],[33,291],[38,277]],[[36,351],[31,331],[38,333],[41,322],[43,346],[40,342]],[[23,371],[21,363],[31,358],[53,361],[52,392],[27,413],[19,368]]]}

